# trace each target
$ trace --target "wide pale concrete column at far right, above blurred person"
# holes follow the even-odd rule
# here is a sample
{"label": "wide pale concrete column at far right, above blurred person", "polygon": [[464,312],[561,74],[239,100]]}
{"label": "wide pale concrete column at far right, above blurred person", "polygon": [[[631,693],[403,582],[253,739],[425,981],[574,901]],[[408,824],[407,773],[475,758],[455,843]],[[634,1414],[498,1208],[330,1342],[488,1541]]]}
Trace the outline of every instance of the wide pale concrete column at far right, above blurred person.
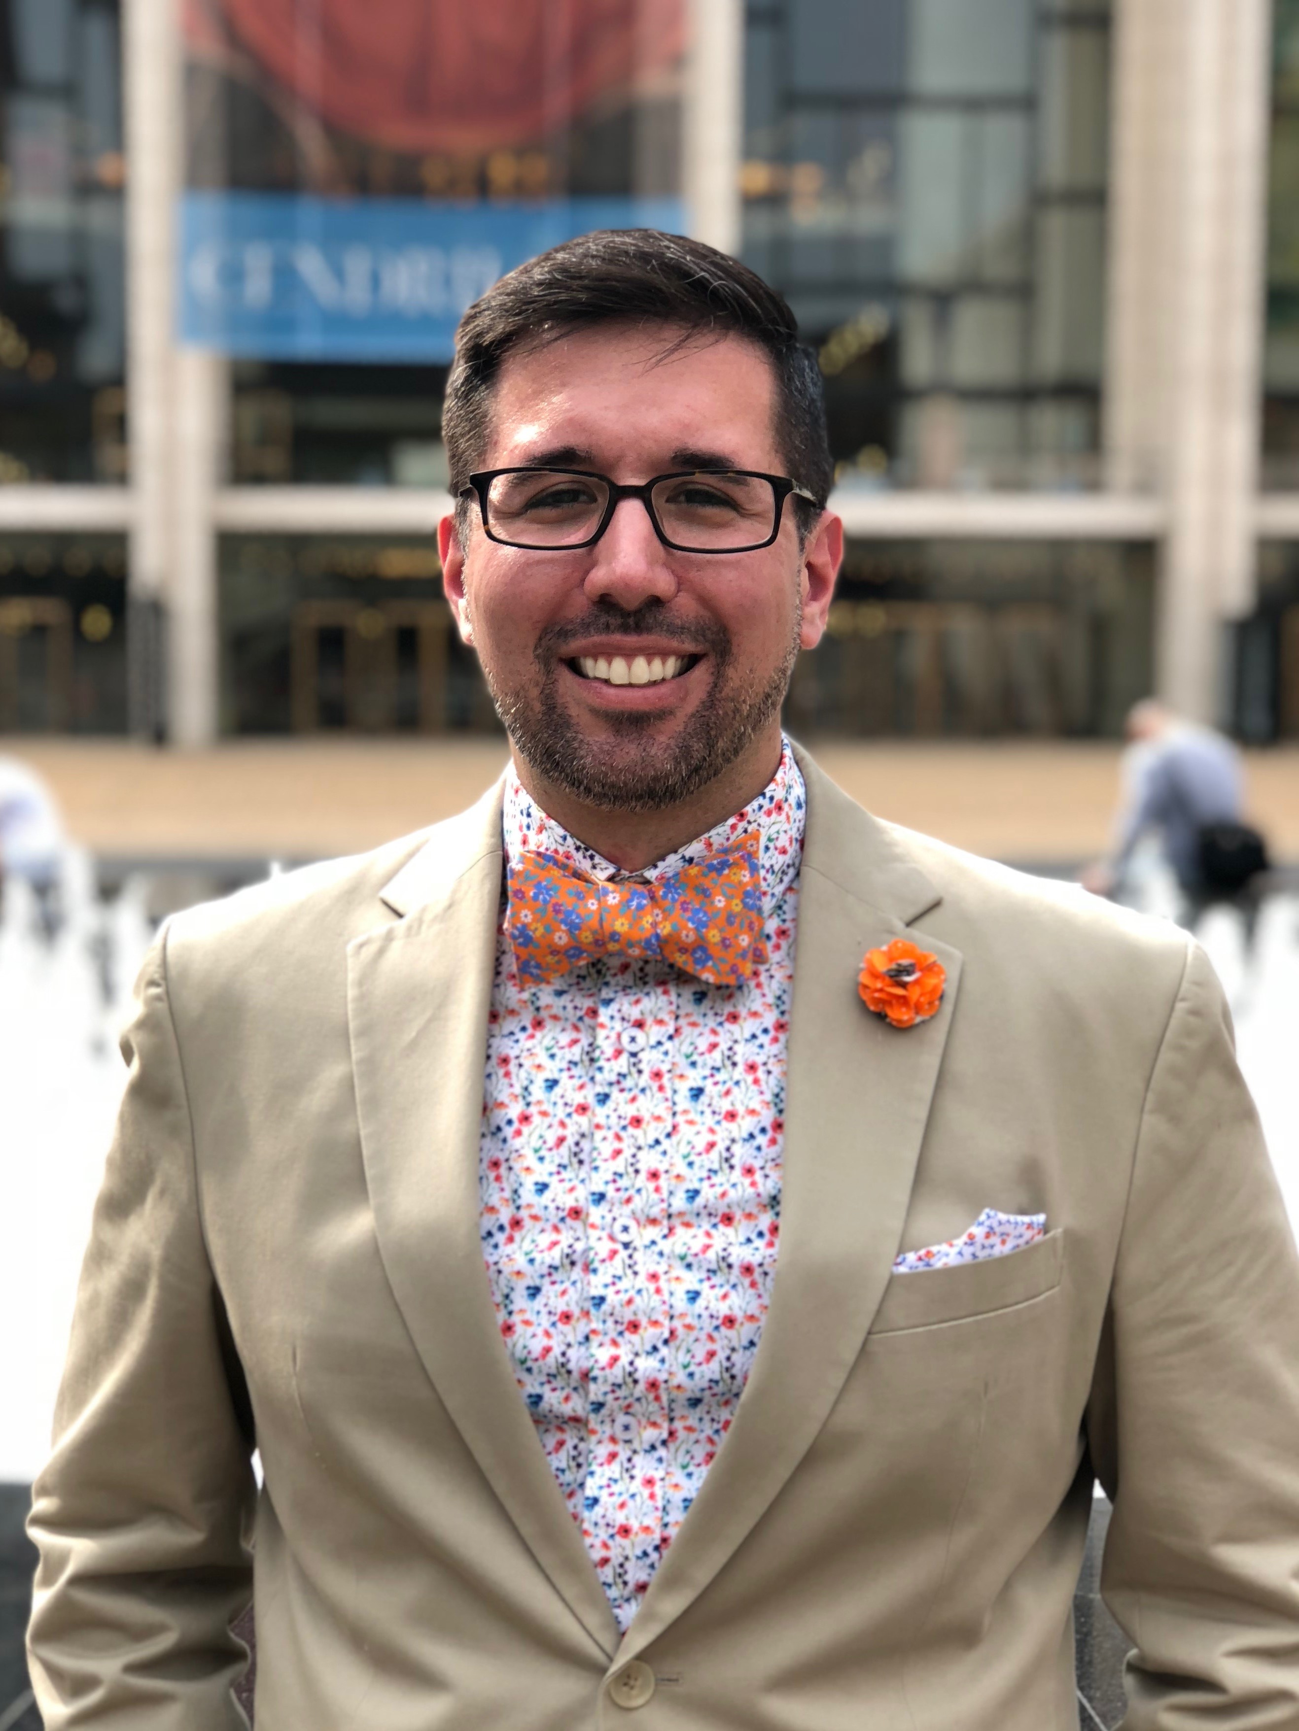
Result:
{"label": "wide pale concrete column at far right, above blurred person", "polygon": [[1270,0],[1119,7],[1107,479],[1167,500],[1157,689],[1202,720],[1254,606],[1270,43]]}

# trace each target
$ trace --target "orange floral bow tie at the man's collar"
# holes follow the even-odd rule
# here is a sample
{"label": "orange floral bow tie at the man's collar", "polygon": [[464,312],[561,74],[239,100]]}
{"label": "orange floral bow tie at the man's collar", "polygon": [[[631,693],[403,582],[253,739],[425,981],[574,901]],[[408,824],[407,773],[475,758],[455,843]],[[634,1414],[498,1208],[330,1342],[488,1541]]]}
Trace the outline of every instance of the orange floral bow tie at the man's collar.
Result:
{"label": "orange floral bow tie at the man's collar", "polygon": [[523,981],[627,956],[741,985],[767,959],[757,845],[748,838],[656,883],[599,883],[549,853],[523,853],[509,862],[506,930]]}

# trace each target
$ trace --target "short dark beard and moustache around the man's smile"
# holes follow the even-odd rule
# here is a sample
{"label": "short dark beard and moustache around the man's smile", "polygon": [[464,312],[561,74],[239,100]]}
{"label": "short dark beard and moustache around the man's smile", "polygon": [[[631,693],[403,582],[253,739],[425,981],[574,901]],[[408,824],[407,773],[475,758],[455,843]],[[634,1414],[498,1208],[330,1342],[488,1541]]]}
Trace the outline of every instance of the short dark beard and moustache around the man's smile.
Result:
{"label": "short dark beard and moustache around the man's smile", "polygon": [[[663,812],[689,800],[736,762],[745,748],[779,715],[790,675],[798,656],[802,609],[781,658],[766,685],[727,684],[733,661],[729,634],[712,621],[682,630],[667,618],[660,601],[650,601],[636,613],[620,608],[596,608],[575,625],[551,627],[537,639],[533,651],[540,668],[540,685],[533,691],[502,691],[483,665],[487,689],[497,715],[523,760],[539,777],[563,788],[584,805],[617,812]],[[618,741],[589,741],[565,713],[556,684],[566,644],[598,635],[655,635],[688,654],[707,653],[714,665],[708,696],[686,722],[681,734],[662,746],[650,746],[625,756]],[[613,727],[629,744],[653,724],[650,715],[613,717]]]}

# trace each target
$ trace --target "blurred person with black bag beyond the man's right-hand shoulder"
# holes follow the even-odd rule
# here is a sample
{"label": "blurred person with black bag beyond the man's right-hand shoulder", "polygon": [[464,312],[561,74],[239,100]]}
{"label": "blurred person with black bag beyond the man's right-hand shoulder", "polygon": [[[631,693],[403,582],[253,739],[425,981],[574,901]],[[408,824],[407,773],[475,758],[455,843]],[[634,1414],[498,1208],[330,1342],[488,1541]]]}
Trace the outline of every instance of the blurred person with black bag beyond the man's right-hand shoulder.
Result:
{"label": "blurred person with black bag beyond the man's right-hand shoulder", "polygon": [[1240,753],[1223,734],[1185,720],[1155,698],[1133,705],[1126,734],[1114,853],[1091,866],[1082,881],[1098,895],[1121,895],[1138,841],[1154,833],[1178,881],[1178,923],[1193,931],[1207,907],[1228,902],[1242,914],[1245,947],[1252,949],[1268,850],[1244,820]]}

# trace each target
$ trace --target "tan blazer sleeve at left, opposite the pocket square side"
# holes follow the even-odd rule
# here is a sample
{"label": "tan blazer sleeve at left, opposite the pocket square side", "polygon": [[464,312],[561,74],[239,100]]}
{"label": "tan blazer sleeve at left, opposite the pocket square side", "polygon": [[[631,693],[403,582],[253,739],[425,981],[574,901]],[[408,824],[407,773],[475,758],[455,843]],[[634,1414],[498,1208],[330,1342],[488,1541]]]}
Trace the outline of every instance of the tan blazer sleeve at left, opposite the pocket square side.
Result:
{"label": "tan blazer sleeve at left, opposite the pocket square side", "polygon": [[203,1241],[166,933],[135,995],[54,1452],[33,1487],[31,1681],[47,1731],[236,1731],[253,1438]]}

